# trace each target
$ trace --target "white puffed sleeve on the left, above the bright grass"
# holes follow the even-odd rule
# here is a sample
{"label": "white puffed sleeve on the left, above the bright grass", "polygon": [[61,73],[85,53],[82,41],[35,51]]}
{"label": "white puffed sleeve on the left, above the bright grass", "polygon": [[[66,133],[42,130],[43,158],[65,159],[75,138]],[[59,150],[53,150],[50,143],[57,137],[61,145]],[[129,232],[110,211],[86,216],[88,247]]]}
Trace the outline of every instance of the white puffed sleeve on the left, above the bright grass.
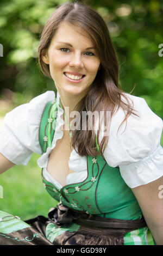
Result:
{"label": "white puffed sleeve on the left, above the bright grass", "polygon": [[47,91],[5,115],[0,130],[0,153],[12,163],[26,166],[32,153],[42,154],[40,121],[46,103],[54,99],[55,93]]}

